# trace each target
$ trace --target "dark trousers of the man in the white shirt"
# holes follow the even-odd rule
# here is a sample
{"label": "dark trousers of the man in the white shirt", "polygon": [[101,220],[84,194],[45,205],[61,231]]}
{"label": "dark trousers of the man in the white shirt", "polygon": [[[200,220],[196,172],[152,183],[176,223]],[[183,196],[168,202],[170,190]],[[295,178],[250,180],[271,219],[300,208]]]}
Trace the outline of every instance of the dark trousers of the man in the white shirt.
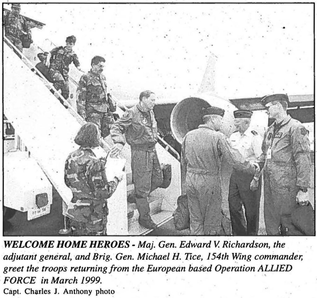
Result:
{"label": "dark trousers of the man in the white shirt", "polygon": [[[256,191],[250,190],[253,174],[234,169],[229,182],[229,211],[233,235],[257,235],[262,179]],[[243,212],[243,208],[245,214]]]}

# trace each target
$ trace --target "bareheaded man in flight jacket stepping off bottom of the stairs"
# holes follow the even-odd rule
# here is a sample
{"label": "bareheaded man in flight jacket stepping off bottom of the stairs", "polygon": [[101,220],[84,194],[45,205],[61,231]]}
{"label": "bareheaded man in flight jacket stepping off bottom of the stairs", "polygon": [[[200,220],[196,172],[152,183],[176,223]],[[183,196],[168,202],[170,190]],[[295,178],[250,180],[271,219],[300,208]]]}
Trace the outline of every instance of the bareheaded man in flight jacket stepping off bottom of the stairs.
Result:
{"label": "bareheaded man in flight jacket stepping off bottom of the stairs", "polygon": [[[163,182],[162,170],[156,154],[157,123],[153,108],[156,95],[149,90],[141,92],[139,103],[128,109],[110,129],[114,142],[112,154],[118,155],[124,144],[131,146],[131,168],[134,195],[139,211],[139,224],[149,229],[157,228],[150,216],[147,197]],[[125,139],[126,136],[126,139]]]}

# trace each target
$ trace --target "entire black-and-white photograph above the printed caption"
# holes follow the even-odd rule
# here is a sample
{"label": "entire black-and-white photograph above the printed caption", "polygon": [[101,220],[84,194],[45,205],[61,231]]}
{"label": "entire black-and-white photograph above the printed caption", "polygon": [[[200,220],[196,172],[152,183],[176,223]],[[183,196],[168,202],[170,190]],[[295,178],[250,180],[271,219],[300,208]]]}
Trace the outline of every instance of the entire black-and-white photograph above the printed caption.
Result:
{"label": "entire black-and-white photograph above the printed caption", "polygon": [[314,3],[2,4],[4,238],[315,236]]}

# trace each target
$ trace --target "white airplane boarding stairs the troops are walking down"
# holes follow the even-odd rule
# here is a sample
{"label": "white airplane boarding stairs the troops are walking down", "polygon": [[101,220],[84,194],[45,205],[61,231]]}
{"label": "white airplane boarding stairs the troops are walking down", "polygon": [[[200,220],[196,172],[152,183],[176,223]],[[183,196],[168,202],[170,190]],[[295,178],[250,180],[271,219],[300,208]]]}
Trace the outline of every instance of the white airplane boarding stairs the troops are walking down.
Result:
{"label": "white airplane boarding stairs the troops are walking down", "polygon": [[[38,61],[37,53],[42,49],[46,51],[49,49],[32,45],[30,49],[26,49],[21,61],[13,52],[13,47],[5,38],[4,114],[67,204],[70,202],[72,194],[63,180],[64,162],[68,154],[77,148],[73,139],[84,120],[71,107],[74,106],[73,104],[64,102],[63,106],[56,100],[56,97],[49,91],[49,89],[54,89],[49,82],[30,72],[30,68],[34,68]],[[19,76],[16,76],[17,69],[19,69]],[[73,74],[73,70],[70,73]],[[73,99],[77,89],[77,82],[73,79],[73,75],[69,82],[70,95]],[[124,107],[120,105],[122,108],[120,109],[119,105],[120,103],[117,103],[117,114],[121,116]],[[108,148],[113,145],[110,137],[106,139],[106,142]],[[180,171],[177,160],[179,156],[176,156],[177,159],[171,156],[167,152],[170,149],[169,146],[166,148],[159,144],[156,146],[160,162],[169,163],[172,166],[171,185],[167,189],[153,191],[149,197],[151,216],[158,225],[172,218],[172,212],[176,208],[177,198],[180,194]],[[106,148],[106,150],[108,149]],[[126,202],[127,195],[134,190],[130,152],[129,146],[126,145],[122,151],[122,155],[126,158],[126,179],[120,183],[116,192],[108,200],[107,231],[109,235],[145,235],[151,231],[139,225],[136,205]],[[115,168],[115,159],[110,159],[110,161],[107,165],[112,164],[112,168]],[[111,169],[108,171],[111,172]]]}

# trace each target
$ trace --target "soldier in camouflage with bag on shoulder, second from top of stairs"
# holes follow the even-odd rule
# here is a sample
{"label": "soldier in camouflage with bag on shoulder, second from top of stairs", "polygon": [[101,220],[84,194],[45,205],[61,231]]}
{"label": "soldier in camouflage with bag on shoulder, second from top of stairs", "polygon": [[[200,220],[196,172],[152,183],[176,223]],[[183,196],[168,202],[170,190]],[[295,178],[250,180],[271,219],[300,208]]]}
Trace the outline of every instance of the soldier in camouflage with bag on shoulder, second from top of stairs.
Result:
{"label": "soldier in camouflage with bag on shoulder, second from top of stairs", "polygon": [[68,36],[66,38],[65,47],[56,47],[50,52],[51,56],[49,59],[49,75],[53,80],[55,89],[57,91],[61,90],[61,95],[65,99],[68,99],[69,96],[69,65],[73,62],[78,69],[80,66],[78,57],[73,51],[73,46],[75,45],[75,42],[75,36]]}

